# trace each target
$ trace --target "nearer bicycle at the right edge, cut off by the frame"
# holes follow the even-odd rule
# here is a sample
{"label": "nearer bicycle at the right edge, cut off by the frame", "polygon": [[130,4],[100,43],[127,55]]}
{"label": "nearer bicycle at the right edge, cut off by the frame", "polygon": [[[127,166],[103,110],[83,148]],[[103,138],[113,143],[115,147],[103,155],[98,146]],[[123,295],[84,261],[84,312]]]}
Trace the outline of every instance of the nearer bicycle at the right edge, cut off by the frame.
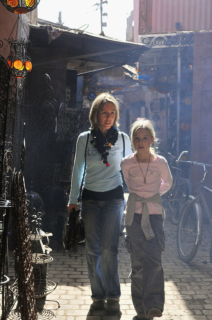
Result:
{"label": "nearer bicycle at the right edge, cut off by the frame", "polygon": [[[212,165],[193,161],[180,160],[181,156],[185,153],[187,153],[187,151],[181,152],[178,159],[176,160],[176,163],[186,162],[191,165],[201,166],[204,170],[204,175],[200,181],[197,194],[194,196],[190,195],[189,200],[186,201],[186,203],[182,207],[177,228],[177,249],[179,257],[184,262],[189,262],[192,259],[194,259],[198,247],[201,244],[203,211],[205,212],[210,227],[212,228],[212,214],[209,211],[208,204],[203,194],[203,192],[205,191],[209,194],[212,194],[212,190],[204,185],[208,173],[206,167],[209,168],[212,167]],[[205,260],[201,262],[212,263],[212,241],[210,245],[210,260]]]}

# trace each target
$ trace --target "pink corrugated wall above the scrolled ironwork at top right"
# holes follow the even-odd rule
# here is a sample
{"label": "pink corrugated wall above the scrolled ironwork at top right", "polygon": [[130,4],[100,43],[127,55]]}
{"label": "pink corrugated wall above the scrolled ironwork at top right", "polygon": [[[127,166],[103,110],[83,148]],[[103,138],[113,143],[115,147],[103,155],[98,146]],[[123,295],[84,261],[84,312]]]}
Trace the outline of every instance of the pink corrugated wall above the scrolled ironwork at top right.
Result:
{"label": "pink corrugated wall above the scrolled ironwork at top right", "polygon": [[[139,3],[138,3],[139,1]],[[211,0],[134,0],[134,40],[138,34],[212,29]]]}

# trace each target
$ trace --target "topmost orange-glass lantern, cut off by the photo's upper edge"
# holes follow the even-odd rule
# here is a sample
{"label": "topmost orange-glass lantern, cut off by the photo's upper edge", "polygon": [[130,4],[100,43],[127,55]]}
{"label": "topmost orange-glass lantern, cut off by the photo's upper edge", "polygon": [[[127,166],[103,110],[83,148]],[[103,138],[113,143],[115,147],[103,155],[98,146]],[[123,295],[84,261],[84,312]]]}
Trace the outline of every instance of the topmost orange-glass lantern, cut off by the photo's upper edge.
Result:
{"label": "topmost orange-glass lantern, cut off by the photo's upper edge", "polygon": [[17,14],[33,11],[40,0],[1,0],[4,7]]}

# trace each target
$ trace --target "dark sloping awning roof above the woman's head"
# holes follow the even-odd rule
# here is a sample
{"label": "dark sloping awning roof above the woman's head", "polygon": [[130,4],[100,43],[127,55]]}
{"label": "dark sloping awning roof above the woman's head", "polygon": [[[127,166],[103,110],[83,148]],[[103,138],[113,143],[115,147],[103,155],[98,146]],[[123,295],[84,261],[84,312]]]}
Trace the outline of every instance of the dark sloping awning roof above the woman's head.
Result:
{"label": "dark sloping awning roof above the woman's head", "polygon": [[[30,25],[29,38],[30,41],[33,41],[33,47],[67,49],[67,58],[62,59],[62,61],[67,60],[67,62],[70,60],[86,60],[108,64],[109,66],[132,65],[139,60],[144,51],[150,49],[149,45],[116,40],[80,30],[62,30],[62,33],[58,32],[60,35],[55,38],[52,37],[55,31],[58,32],[58,29],[49,25]],[[55,62],[58,62],[58,60],[55,60]],[[36,65],[39,65],[39,63]]]}

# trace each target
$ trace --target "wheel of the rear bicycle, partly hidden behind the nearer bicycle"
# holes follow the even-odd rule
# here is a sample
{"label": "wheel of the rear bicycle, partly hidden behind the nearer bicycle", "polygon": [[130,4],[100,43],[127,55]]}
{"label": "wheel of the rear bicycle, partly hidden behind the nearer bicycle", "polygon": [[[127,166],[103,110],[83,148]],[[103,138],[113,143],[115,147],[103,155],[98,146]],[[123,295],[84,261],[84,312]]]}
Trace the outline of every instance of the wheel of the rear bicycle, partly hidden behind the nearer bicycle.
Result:
{"label": "wheel of the rear bicycle, partly hidden behind the nearer bicycle", "polygon": [[184,203],[192,193],[192,184],[188,179],[180,180],[179,185],[175,188],[173,198],[170,201],[171,213],[170,218],[173,224],[178,224],[179,213]]}

